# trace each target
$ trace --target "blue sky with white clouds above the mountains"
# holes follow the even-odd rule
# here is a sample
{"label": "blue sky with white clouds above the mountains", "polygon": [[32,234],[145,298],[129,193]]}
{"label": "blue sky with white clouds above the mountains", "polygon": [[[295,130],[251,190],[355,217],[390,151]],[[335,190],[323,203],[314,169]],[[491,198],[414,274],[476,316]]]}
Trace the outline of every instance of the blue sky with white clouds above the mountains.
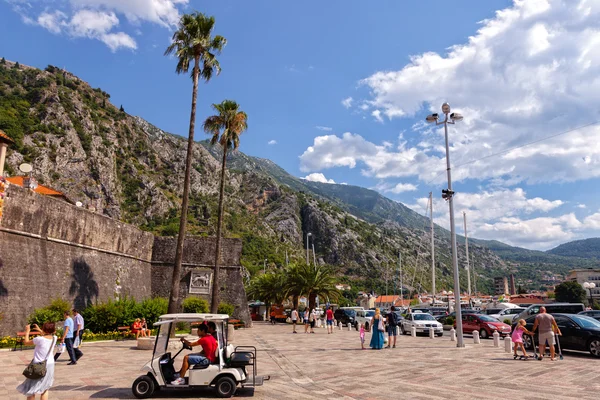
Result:
{"label": "blue sky with white clouds above the mountains", "polygon": [[599,236],[600,2],[0,0],[0,56],[187,135],[191,80],[163,53],[196,10],[227,39],[197,120],[237,101],[241,151],[421,214],[433,192],[448,228],[444,130],[425,122],[448,102],[457,233],[465,212],[470,237],[529,249]]}

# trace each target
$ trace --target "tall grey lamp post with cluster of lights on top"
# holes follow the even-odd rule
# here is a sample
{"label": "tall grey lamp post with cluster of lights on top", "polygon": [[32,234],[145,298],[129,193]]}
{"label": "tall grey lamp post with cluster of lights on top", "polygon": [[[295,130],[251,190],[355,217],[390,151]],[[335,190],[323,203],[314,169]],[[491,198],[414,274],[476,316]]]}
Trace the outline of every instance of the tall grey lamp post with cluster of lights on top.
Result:
{"label": "tall grey lamp post with cluster of lights on top", "polygon": [[[444,125],[444,136],[446,139],[446,171],[448,172],[448,189],[442,190],[442,198],[448,201],[448,208],[450,211],[450,237],[452,244],[452,265],[454,270],[454,311],[456,312],[456,321],[462,321],[462,312],[460,306],[460,281],[458,272],[458,257],[456,253],[456,229],[454,227],[454,192],[452,191],[452,175],[450,173],[450,146],[448,145],[448,124],[454,125],[455,122],[461,121],[463,116],[459,113],[450,113],[450,104],[442,104],[442,113],[444,114],[444,120],[440,121],[440,116],[437,113],[428,115],[425,120],[429,123],[435,123],[436,125]],[[456,347],[465,347],[463,340],[463,328],[462,323],[456,324]]]}

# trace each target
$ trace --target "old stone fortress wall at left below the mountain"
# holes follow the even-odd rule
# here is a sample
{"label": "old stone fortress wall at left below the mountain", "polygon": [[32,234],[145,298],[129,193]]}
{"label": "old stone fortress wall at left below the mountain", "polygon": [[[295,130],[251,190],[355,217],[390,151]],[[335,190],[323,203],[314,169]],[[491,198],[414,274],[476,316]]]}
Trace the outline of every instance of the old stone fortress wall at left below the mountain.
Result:
{"label": "old stone fortress wall at left below the mountain", "polygon": [[[21,331],[27,316],[54,298],[84,308],[116,296],[168,296],[174,241],[10,185],[0,220],[0,336]],[[222,298],[248,323],[241,241],[223,244]],[[193,271],[212,273],[214,239],[188,238],[184,253],[181,298]]]}

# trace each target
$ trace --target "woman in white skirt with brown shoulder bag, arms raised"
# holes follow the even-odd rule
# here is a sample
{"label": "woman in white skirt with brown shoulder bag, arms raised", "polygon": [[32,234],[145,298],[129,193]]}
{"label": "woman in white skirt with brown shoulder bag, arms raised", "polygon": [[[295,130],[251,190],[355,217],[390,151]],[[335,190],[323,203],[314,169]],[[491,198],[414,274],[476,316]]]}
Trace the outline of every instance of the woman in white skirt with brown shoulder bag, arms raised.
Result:
{"label": "woman in white skirt with brown shoulder bag, arms raised", "polygon": [[17,390],[27,396],[27,400],[34,400],[35,395],[39,394],[41,400],[48,400],[48,390],[54,383],[54,357],[52,350],[56,344],[56,327],[54,322],[46,322],[40,329],[37,325],[33,325],[33,330],[38,332],[40,336],[29,339],[31,328],[29,325],[25,327],[25,340],[23,344],[26,346],[34,345],[33,360],[23,371],[26,376],[25,382],[17,386]]}

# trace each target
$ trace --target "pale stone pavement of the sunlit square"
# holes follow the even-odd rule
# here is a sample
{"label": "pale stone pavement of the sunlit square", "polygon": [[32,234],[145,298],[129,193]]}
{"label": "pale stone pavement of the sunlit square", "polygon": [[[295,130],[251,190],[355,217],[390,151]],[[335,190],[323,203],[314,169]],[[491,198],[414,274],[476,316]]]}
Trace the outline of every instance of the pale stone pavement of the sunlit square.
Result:
{"label": "pale stone pavement of the sunlit square", "polygon": [[[294,335],[291,326],[264,323],[235,332],[234,344],[259,349],[259,375],[271,376],[255,399],[597,399],[600,392],[600,359],[586,353],[568,352],[555,362],[515,361],[502,341],[500,348],[491,340],[474,345],[468,336],[464,349],[448,336],[399,336],[396,349],[361,350],[356,331],[316,332]],[[370,333],[366,336],[368,342]],[[85,356],[76,366],[67,366],[61,356],[50,399],[133,398],[131,384],[151,357],[133,346],[134,341],[84,343]],[[23,398],[15,387],[32,354],[0,352],[0,399]],[[215,397],[210,390],[170,394],[156,397]]]}

